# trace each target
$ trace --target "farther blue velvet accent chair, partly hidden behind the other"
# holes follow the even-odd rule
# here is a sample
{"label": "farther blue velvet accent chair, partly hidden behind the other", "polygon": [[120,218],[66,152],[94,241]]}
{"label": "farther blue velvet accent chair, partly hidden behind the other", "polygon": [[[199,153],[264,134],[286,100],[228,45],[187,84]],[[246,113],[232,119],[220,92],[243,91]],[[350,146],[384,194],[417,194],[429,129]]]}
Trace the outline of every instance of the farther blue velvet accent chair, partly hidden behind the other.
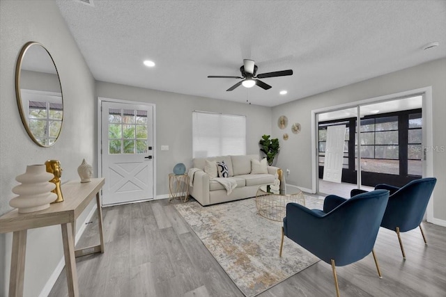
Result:
{"label": "farther blue velvet accent chair, partly hidden behind the other", "polygon": [[[401,188],[389,184],[378,184],[375,187],[376,190],[385,189],[390,191],[389,202],[385,209],[381,227],[397,232],[403,259],[406,259],[406,253],[404,252],[400,232],[407,232],[420,227],[424,244],[427,244],[421,222],[436,182],[435,177],[426,177],[415,179]],[[364,191],[353,189],[351,195],[357,195],[361,192]]]}

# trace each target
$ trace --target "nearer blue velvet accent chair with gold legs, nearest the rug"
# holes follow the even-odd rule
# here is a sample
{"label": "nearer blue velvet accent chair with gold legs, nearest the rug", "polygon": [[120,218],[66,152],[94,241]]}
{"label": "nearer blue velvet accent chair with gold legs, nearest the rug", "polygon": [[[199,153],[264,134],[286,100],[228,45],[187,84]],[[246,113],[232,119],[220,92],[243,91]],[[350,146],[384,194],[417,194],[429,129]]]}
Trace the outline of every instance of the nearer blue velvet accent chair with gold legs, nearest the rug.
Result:
{"label": "nearer blue velvet accent chair with gold legs, nearest the rug", "polygon": [[357,262],[370,252],[381,278],[373,248],[388,199],[389,191],[377,190],[350,199],[328,195],[323,210],[307,209],[297,203],[286,204],[279,256],[282,257],[286,236],[331,264],[337,296],[335,267]]}

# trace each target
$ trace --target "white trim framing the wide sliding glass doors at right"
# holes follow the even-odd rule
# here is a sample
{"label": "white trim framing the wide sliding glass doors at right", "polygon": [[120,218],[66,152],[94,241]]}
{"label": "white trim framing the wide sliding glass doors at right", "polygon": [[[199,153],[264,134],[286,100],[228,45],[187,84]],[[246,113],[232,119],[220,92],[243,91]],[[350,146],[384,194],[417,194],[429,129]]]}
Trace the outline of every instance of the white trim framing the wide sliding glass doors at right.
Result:
{"label": "white trim framing the wide sliding glass doors at right", "polygon": [[[316,160],[318,158],[318,143],[316,139],[316,132],[318,127],[318,113],[327,113],[329,111],[339,111],[341,109],[351,109],[360,105],[367,105],[371,103],[385,102],[394,99],[410,97],[413,95],[422,95],[422,118],[423,118],[423,145],[426,147],[433,147],[433,131],[432,131],[432,86],[424,88],[417,88],[414,90],[406,90],[400,93],[390,95],[383,95],[369,99],[363,99],[355,102],[348,102],[335,106],[323,107],[321,109],[312,110],[312,193],[317,193],[317,179],[318,166]],[[433,176],[433,152],[432,150],[426,152],[426,166],[423,166],[423,177]],[[431,223],[436,223],[436,218],[433,218],[433,194],[426,209],[426,220]],[[437,222],[438,223],[438,222]]]}

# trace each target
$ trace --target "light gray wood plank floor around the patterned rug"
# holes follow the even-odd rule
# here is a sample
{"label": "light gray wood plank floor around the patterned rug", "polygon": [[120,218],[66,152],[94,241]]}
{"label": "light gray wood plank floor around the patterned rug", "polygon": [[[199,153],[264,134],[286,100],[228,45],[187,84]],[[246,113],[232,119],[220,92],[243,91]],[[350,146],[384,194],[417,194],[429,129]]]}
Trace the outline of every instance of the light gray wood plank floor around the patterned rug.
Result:
{"label": "light gray wood plank floor around the patterned rug", "polygon": [[[103,214],[105,253],[77,258],[81,296],[243,296],[167,200],[107,207]],[[395,232],[381,228],[375,250],[383,279],[371,255],[337,267],[341,296],[445,297],[446,228],[422,226],[428,246],[419,229],[402,234],[406,260]],[[96,230],[93,218],[78,245],[96,243]],[[331,266],[320,261],[259,296],[335,295]],[[68,296],[65,271],[49,296]]]}

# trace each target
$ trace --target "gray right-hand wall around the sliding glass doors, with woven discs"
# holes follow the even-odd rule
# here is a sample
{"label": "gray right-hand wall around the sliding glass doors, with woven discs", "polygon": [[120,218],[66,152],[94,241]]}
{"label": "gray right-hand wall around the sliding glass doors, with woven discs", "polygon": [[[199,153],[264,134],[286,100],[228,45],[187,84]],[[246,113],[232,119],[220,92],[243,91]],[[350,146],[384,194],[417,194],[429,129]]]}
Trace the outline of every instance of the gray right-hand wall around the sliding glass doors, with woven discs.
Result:
{"label": "gray right-hand wall around the sliding glass doors, with woven discs", "polygon": [[[272,134],[281,139],[282,145],[277,166],[291,170],[291,175],[286,177],[286,181],[303,188],[312,188],[312,110],[426,86],[432,86],[433,146],[445,147],[446,59],[444,58],[273,107]],[[290,135],[289,141],[282,141],[282,134],[285,132],[275,125],[280,115],[286,115],[289,119],[289,127],[285,131]],[[300,134],[295,135],[291,132],[293,122],[300,122],[302,125]],[[438,179],[433,193],[433,217],[440,220],[446,220],[445,168],[446,152],[433,152],[433,176]]]}

